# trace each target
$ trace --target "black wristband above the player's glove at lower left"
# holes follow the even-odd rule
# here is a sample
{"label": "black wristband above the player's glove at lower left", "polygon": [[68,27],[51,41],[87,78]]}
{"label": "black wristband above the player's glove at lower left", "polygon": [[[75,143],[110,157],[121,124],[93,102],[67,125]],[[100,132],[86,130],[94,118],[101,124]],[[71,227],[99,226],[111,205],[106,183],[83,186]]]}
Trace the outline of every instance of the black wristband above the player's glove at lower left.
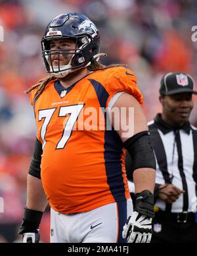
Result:
{"label": "black wristband above the player's glove at lower left", "polygon": [[26,232],[37,232],[43,213],[41,211],[34,211],[28,208],[24,210],[22,224],[18,230],[18,234]]}

